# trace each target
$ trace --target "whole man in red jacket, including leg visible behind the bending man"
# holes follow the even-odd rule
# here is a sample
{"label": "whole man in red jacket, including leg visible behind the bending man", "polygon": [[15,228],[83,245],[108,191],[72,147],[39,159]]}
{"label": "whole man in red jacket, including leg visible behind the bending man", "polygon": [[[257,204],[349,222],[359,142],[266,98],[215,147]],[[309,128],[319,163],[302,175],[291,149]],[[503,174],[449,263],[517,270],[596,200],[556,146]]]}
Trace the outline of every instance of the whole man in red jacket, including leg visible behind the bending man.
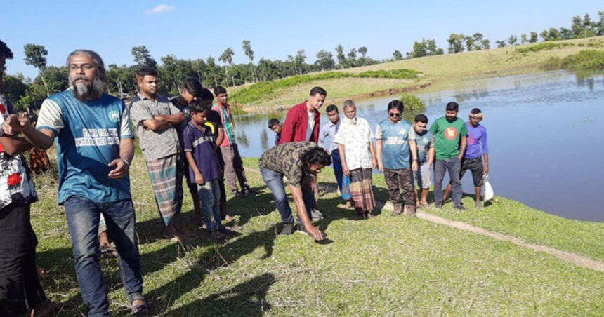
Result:
{"label": "whole man in red jacket, including leg visible behind the bending man", "polygon": [[[296,104],[289,109],[285,122],[281,130],[281,140],[279,144],[287,142],[315,142],[319,140],[319,109],[325,102],[327,91],[321,87],[310,89],[308,100],[301,104]],[[311,177],[310,184],[303,184],[302,194],[304,203],[308,207],[308,217],[310,220],[322,219],[323,214],[317,210],[317,201],[315,196],[319,194],[317,177]]]}

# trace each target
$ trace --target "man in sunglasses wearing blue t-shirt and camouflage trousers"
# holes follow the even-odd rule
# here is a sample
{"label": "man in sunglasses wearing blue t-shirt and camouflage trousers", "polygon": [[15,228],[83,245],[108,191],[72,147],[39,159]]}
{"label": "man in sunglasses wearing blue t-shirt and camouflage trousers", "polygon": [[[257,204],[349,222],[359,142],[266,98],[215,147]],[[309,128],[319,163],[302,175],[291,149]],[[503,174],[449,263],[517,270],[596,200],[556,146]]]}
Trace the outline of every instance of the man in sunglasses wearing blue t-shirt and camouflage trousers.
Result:
{"label": "man in sunglasses wearing blue t-shirt and camouflage trousers", "polygon": [[388,119],[378,123],[376,128],[376,156],[394,205],[393,215],[400,215],[402,211],[399,191],[402,188],[406,213],[415,217],[412,170],[417,171],[417,149],[415,140],[409,137],[411,123],[402,119],[402,110],[403,104],[399,100],[388,103]]}

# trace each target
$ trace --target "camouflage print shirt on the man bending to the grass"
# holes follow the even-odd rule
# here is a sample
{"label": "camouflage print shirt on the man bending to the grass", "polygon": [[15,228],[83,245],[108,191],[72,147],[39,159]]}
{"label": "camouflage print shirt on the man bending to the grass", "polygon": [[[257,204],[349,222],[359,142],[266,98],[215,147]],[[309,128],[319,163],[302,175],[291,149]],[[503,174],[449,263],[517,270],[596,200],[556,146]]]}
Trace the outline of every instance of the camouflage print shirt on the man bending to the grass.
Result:
{"label": "camouflage print shirt on the man bending to the grass", "polygon": [[258,166],[275,170],[287,177],[287,184],[300,187],[300,183],[308,175],[308,168],[302,163],[302,154],[317,147],[315,142],[289,142],[271,147],[265,151]]}

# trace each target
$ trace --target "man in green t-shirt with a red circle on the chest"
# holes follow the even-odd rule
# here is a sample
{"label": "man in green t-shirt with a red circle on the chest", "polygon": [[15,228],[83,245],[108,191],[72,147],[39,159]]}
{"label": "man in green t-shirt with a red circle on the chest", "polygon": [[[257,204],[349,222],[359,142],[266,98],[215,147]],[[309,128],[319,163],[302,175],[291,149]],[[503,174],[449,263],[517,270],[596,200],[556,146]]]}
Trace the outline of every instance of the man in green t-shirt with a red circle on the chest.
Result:
{"label": "man in green t-shirt with a red circle on the chest", "polygon": [[466,151],[468,128],[463,120],[457,118],[457,112],[459,112],[459,104],[449,102],[445,109],[445,116],[436,119],[430,127],[436,150],[434,162],[434,203],[436,208],[442,208],[442,179],[445,178],[445,172],[448,170],[453,187],[454,208],[466,209],[461,204],[459,170],[461,170],[461,158],[464,157]]}

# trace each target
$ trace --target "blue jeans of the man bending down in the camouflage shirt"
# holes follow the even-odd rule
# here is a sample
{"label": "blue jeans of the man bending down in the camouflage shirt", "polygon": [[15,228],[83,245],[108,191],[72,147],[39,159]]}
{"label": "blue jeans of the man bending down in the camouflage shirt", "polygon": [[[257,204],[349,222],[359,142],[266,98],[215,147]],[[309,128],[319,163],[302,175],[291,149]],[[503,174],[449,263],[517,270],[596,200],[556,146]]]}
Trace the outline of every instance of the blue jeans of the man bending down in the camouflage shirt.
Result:
{"label": "blue jeans of the man bending down in the camouflage shirt", "polygon": [[[279,210],[279,213],[281,214],[281,221],[284,224],[294,222],[294,217],[291,216],[291,208],[289,208],[289,203],[287,202],[287,194],[285,194],[283,174],[276,170],[271,170],[270,168],[260,168],[260,173],[262,173],[262,179],[266,183],[268,189],[273,192],[275,203],[277,203],[277,210]],[[310,183],[302,184],[301,187],[306,214],[308,215],[309,220],[313,220],[313,216],[310,215],[310,209],[317,207],[315,193],[313,192],[313,188],[310,187]],[[298,222],[301,222],[300,216],[297,217]]]}

